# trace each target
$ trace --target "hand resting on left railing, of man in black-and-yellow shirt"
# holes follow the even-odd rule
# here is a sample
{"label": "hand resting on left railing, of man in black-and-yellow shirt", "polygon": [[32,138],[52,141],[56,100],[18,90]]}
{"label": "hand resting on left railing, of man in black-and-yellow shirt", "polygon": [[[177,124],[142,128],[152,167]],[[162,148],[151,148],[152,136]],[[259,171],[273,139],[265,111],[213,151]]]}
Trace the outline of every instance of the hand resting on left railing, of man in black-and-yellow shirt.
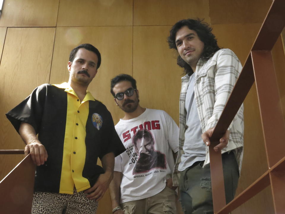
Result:
{"label": "hand resting on left railing, of man in black-and-yellow shirt", "polygon": [[33,139],[31,143],[26,145],[25,156],[28,154],[31,154],[31,158],[37,166],[43,165],[47,161],[47,150],[38,139]]}

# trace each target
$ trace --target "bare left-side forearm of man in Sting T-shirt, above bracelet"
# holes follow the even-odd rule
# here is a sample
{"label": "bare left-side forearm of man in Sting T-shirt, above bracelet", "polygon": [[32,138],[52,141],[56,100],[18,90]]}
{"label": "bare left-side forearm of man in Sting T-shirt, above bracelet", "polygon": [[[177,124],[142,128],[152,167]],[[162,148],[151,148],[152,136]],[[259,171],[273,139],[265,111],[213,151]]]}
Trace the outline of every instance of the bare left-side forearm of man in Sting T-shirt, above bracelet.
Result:
{"label": "bare left-side forearm of man in Sting T-shirt, above bracelet", "polygon": [[122,173],[114,171],[114,177],[109,185],[112,208],[120,206]]}

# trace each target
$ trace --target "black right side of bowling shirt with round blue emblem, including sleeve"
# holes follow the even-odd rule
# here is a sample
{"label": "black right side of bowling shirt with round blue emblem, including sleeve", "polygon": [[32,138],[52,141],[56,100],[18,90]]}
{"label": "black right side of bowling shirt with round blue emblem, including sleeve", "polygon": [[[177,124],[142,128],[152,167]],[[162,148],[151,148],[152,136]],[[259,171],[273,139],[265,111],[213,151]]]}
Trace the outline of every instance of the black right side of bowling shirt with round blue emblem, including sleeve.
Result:
{"label": "black right side of bowling shirt with round blue emblem, including sleeve", "polygon": [[96,165],[97,158],[102,159],[110,152],[117,156],[126,150],[115,131],[110,112],[97,100],[89,101],[85,145],[86,159],[82,176],[87,178],[93,186],[99,175],[104,173],[103,168]]}

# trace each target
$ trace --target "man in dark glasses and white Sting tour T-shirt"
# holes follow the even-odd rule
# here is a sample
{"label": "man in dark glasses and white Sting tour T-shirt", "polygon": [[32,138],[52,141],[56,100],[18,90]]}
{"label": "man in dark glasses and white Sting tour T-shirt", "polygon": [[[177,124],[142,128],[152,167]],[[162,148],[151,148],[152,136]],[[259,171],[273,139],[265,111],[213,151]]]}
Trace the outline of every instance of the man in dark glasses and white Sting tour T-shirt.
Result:
{"label": "man in dark glasses and white Sting tour T-shirt", "polygon": [[115,103],[124,111],[115,129],[126,151],[115,158],[109,191],[113,213],[176,213],[171,173],[178,151],[178,126],[162,110],[142,108],[136,80],[111,80]]}

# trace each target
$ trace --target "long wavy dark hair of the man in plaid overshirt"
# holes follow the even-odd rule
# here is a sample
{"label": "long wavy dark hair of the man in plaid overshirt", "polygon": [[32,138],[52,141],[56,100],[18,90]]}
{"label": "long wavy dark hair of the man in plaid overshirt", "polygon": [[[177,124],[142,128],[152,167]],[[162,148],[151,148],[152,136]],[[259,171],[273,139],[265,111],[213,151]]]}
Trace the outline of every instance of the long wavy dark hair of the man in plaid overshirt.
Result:
{"label": "long wavy dark hair of the man in plaid overshirt", "polygon": [[[201,54],[201,58],[203,60],[208,60],[210,59],[214,53],[221,48],[217,44],[217,40],[215,35],[211,32],[212,28],[209,26],[208,23],[203,22],[204,19],[183,19],[175,23],[175,25],[172,26],[170,30],[170,36],[167,38],[167,42],[169,45],[169,48],[174,48],[177,50],[176,43],[175,43],[175,38],[176,38],[176,33],[179,29],[181,29],[184,26],[187,26],[190,30],[194,30],[199,39],[204,43],[204,50]],[[177,57],[177,64],[180,67],[184,68],[184,73],[185,74],[192,74],[193,70],[187,62],[185,62],[181,56],[179,55]]]}

